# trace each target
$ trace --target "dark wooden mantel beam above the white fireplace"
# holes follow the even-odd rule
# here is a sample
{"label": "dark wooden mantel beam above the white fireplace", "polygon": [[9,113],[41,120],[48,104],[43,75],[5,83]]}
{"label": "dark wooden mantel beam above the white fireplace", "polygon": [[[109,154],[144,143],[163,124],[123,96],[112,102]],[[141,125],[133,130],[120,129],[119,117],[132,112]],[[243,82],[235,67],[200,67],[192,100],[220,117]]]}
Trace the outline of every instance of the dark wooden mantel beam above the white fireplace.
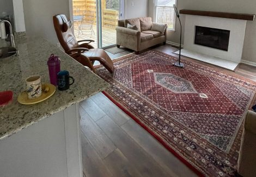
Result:
{"label": "dark wooden mantel beam above the white fireplace", "polygon": [[238,20],[250,20],[254,21],[254,14],[236,14],[236,13],[223,13],[218,11],[202,11],[202,10],[180,10],[180,14],[186,15],[199,15],[199,16],[211,16],[211,17],[220,17],[226,19],[238,19]]}

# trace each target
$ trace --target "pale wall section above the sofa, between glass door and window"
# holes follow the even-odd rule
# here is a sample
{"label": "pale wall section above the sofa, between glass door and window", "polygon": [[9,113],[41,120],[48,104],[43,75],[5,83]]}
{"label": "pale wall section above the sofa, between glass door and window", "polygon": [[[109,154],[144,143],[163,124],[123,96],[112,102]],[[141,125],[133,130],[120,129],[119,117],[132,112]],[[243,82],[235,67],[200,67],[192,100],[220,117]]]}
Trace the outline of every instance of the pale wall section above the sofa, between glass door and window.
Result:
{"label": "pale wall section above the sofa, between glass door and window", "polygon": [[125,19],[148,16],[148,0],[125,0]]}

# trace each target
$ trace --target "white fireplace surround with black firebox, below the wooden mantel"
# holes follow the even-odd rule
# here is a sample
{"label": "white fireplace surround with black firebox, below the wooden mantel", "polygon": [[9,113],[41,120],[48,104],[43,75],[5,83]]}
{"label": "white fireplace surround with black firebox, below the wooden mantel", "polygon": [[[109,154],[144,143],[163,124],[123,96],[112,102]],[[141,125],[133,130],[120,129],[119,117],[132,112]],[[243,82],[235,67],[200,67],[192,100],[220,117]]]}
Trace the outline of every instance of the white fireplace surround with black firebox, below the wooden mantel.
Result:
{"label": "white fireplace surround with black firebox, below the wooden mantel", "polygon": [[[246,20],[186,15],[184,50],[194,52],[193,56],[188,56],[187,54],[186,56],[205,62],[205,58],[209,58],[209,61],[222,67],[224,67],[222,60],[228,60],[236,63],[236,65],[239,64],[242,58],[246,22]],[[220,60],[221,62],[216,62]],[[231,63],[225,66],[229,65],[231,66]],[[230,70],[233,69],[235,67]]]}

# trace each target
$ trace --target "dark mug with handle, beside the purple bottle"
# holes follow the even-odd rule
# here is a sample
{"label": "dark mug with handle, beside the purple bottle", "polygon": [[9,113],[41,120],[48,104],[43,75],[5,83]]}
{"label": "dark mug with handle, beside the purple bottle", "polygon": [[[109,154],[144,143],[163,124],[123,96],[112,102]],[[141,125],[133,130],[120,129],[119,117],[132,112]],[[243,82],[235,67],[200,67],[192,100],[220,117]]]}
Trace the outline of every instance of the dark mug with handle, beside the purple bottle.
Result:
{"label": "dark mug with handle, beside the purple bottle", "polygon": [[[70,78],[72,83],[70,83]],[[75,82],[75,79],[72,76],[69,76],[69,71],[63,70],[58,72],[58,89],[67,90]]]}

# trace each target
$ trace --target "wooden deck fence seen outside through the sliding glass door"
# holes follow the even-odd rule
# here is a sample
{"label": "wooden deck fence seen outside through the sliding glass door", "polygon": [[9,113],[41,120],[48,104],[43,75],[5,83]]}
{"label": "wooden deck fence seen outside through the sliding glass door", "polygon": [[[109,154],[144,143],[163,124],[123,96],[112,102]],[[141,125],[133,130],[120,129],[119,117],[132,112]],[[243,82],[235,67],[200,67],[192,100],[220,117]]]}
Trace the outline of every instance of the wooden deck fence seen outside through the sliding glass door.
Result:
{"label": "wooden deck fence seen outside through the sliding glass door", "polygon": [[[102,0],[102,26],[115,29],[118,23],[118,10],[106,9],[106,0]],[[84,12],[87,13],[84,13]],[[90,15],[87,15],[90,12]],[[96,0],[73,0],[73,15],[83,16],[83,21],[96,23]]]}

